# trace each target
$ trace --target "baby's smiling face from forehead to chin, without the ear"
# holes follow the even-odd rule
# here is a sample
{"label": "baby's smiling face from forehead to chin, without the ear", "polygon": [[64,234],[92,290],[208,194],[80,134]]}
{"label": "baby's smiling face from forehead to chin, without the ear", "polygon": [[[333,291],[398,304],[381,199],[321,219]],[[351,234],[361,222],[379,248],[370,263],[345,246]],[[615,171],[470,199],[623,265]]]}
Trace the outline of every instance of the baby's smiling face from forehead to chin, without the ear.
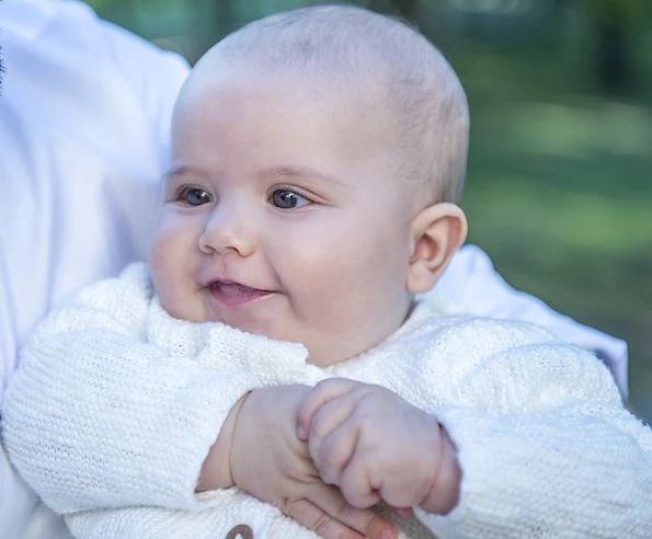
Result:
{"label": "baby's smiling face from forehead to chin, without the ear", "polygon": [[163,308],[302,343],[317,365],[389,336],[410,303],[392,128],[378,107],[296,78],[193,81],[150,251]]}

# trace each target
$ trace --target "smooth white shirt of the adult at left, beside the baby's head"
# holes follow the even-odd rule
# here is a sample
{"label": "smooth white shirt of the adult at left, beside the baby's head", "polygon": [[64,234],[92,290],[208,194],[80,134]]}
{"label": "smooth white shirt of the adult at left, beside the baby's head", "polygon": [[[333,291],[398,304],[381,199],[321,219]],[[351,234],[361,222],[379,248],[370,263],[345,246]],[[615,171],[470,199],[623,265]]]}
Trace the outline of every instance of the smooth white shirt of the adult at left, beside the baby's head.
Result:
{"label": "smooth white shirt of the adult at left, beside the baby's head", "polygon": [[[187,66],[81,2],[0,2],[0,402],[50,306],[144,254]],[[0,537],[36,497],[0,455]],[[30,537],[53,539],[34,518]]]}

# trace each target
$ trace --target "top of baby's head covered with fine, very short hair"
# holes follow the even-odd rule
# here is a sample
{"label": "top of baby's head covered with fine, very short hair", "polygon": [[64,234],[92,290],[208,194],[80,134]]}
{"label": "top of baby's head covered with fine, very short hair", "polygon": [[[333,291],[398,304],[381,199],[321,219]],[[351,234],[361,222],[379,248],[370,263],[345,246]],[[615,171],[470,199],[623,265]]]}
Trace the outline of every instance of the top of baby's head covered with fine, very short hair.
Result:
{"label": "top of baby's head covered with fine, very short hair", "polygon": [[[393,167],[402,168],[403,176],[437,190],[442,181],[450,184],[445,192],[451,194],[444,198],[455,199],[460,191],[455,185],[464,184],[466,95],[442,54],[402,22],[347,7],[263,19],[227,36],[199,60],[180,103],[220,106],[206,91],[218,87],[259,92],[270,106],[274,88],[285,88],[291,98],[277,92],[277,100],[308,102],[316,110],[323,104],[322,119],[346,116],[347,129],[378,140],[382,135],[384,150],[398,150]],[[306,123],[304,129],[308,134],[311,126]]]}

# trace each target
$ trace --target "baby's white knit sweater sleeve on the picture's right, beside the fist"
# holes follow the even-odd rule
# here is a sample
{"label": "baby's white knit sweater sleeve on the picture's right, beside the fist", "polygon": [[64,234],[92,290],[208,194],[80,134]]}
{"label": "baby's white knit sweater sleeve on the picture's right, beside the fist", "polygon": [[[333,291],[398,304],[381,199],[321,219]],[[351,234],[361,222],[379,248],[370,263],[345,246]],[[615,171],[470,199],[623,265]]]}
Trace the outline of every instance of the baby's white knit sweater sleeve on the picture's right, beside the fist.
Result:
{"label": "baby's white knit sweater sleeve on the picture's right, beside the fist", "polygon": [[458,449],[460,502],[446,516],[416,511],[437,537],[652,537],[652,431],[590,354],[522,344],[451,392],[433,413]]}

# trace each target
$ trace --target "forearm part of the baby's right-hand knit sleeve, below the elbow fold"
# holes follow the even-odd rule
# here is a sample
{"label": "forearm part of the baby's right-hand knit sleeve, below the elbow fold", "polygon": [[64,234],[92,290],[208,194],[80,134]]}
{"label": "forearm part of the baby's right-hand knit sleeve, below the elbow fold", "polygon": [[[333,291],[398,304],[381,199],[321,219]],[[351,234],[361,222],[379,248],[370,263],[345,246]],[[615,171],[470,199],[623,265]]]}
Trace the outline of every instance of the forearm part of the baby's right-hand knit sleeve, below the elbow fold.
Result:
{"label": "forearm part of the baby's right-hand knit sleeve, below the elbow fold", "polygon": [[[634,432],[617,426],[626,414],[600,403],[523,414],[442,409],[458,449],[460,500],[448,515],[416,515],[441,539],[648,537],[640,530],[652,530],[652,473]],[[636,426],[641,440],[651,437]]]}

